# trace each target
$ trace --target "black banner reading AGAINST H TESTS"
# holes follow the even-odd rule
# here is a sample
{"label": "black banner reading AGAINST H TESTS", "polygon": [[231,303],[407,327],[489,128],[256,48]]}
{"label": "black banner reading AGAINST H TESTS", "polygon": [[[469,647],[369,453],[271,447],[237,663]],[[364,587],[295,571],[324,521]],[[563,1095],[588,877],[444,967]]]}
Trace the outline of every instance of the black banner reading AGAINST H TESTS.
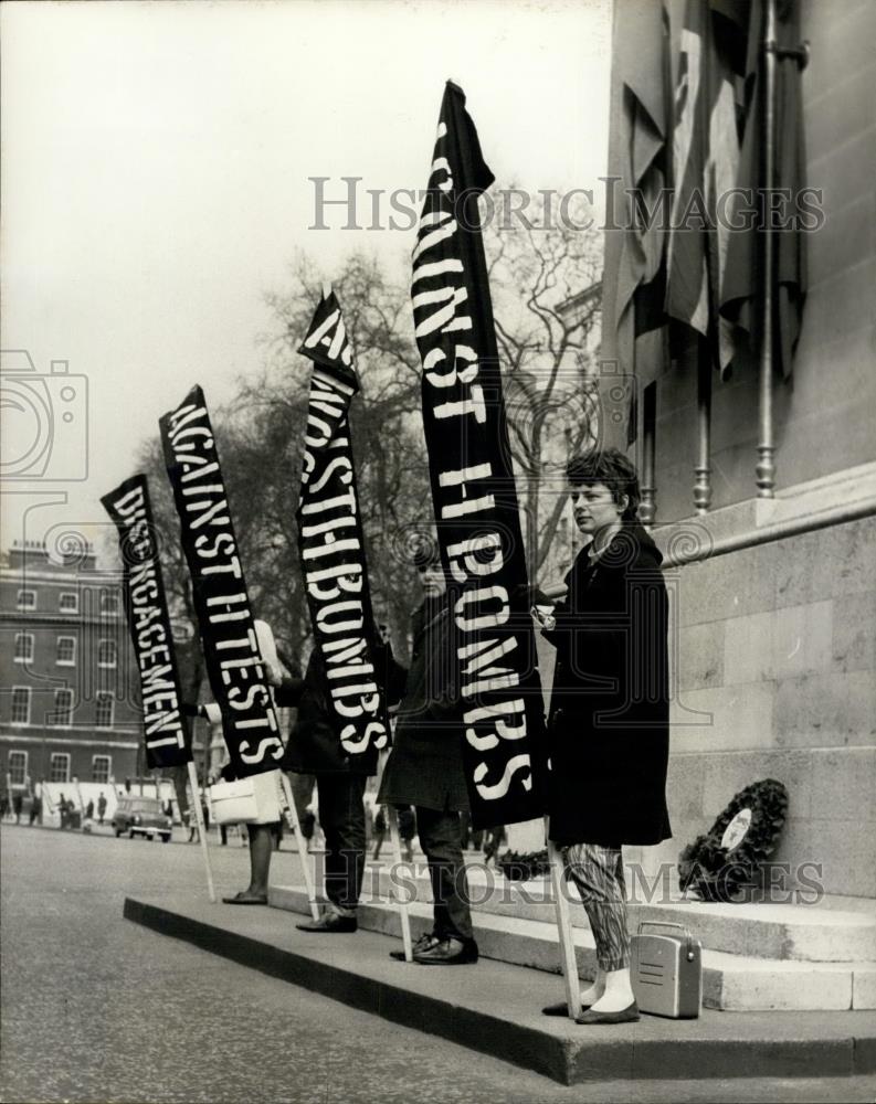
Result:
{"label": "black banner reading AGAINST H TESTS", "polygon": [[203,391],[193,386],[160,421],[180,519],[207,677],[234,771],[272,771],[283,741],[258,651],[246,582]]}

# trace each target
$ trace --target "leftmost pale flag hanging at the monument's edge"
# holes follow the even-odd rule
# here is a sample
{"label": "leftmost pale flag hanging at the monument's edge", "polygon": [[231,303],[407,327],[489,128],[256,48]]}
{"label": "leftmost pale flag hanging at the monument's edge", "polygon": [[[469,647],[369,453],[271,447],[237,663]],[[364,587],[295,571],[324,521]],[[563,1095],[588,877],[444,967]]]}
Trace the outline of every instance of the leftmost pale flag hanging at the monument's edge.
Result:
{"label": "leftmost pale flag hanging at the monument's edge", "polygon": [[666,227],[671,197],[669,26],[658,0],[615,0],[609,188],[602,291],[602,360],[612,394],[626,380],[626,443],[636,436],[636,393],[666,369]]}

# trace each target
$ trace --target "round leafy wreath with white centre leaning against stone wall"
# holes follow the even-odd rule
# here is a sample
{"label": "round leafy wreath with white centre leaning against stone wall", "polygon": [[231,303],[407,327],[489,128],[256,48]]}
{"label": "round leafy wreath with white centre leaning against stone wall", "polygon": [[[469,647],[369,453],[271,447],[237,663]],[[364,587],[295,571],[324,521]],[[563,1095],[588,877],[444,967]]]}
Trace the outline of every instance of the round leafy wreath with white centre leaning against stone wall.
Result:
{"label": "round leafy wreath with white centre leaning against stone wall", "polygon": [[[742,809],[751,824],[733,850],[721,847],[727,826]],[[682,892],[695,890],[704,901],[738,901],[757,881],[758,871],[775,846],[788,815],[788,790],[775,778],[763,778],[740,789],[705,836],[697,836],[678,856]]]}

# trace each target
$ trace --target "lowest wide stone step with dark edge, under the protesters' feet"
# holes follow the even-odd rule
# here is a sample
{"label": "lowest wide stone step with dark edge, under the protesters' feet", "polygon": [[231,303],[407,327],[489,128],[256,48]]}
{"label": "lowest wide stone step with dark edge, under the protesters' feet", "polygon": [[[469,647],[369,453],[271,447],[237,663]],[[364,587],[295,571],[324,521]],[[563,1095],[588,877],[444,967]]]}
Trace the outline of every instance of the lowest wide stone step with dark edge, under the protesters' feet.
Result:
{"label": "lowest wide stone step with dark edge, under the protesters' feet", "polygon": [[[383,935],[307,934],[278,909],[231,909],[194,893],[127,898],[124,915],[159,935],[566,1085],[701,1078],[704,1070],[716,1079],[876,1072],[876,1023],[862,1012],[725,1016],[706,1009],[694,1020],[643,1016],[637,1023],[581,1027],[541,1015],[560,986],[539,970],[489,960],[445,969],[392,962],[389,952],[398,942]],[[632,1092],[641,1096],[647,1089]]]}

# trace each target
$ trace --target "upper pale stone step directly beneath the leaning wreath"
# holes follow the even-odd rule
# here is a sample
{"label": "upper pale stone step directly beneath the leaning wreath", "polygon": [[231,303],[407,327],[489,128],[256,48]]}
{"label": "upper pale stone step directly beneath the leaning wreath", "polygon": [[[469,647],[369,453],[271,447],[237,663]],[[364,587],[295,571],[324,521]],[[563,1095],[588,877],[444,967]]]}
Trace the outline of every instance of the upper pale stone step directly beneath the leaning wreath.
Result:
{"label": "upper pale stone step directly beneath the leaning wreath", "polygon": [[[553,900],[547,879],[510,882],[481,863],[467,867],[473,907],[499,916],[553,923]],[[431,901],[425,860],[414,861],[413,874],[401,863],[390,874],[389,866],[370,863],[365,888],[371,896],[389,900],[392,888],[402,888],[410,899]],[[643,921],[682,924],[704,947],[752,958],[799,962],[876,962],[876,902],[852,909],[847,901],[835,907],[830,899],[819,903],[724,904],[674,898],[668,890],[652,892],[643,900],[643,887],[627,887],[630,928]],[[572,924],[588,928],[587,916],[573,885],[569,885]]]}

